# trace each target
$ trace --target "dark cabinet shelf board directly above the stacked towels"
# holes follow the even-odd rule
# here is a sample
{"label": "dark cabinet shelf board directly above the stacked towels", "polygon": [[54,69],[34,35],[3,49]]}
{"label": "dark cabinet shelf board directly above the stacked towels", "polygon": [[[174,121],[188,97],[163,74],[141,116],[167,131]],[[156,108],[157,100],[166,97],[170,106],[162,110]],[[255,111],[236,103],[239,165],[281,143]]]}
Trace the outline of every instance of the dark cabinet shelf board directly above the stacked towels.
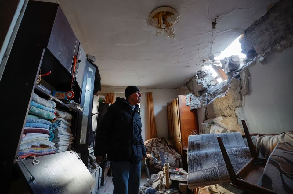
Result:
{"label": "dark cabinet shelf board directly above the stacked towels", "polygon": [[37,85],[35,86],[34,91],[40,97],[44,97],[45,99],[51,99],[52,101],[54,101],[58,108],[62,108],[64,110],[66,110],[66,111],[74,111],[74,112],[82,112],[83,111],[83,109],[80,106],[74,105],[74,104],[66,104],[66,103],[62,102],[60,99],[58,99],[58,98],[52,96],[51,94],[45,92],[44,90],[39,88]]}

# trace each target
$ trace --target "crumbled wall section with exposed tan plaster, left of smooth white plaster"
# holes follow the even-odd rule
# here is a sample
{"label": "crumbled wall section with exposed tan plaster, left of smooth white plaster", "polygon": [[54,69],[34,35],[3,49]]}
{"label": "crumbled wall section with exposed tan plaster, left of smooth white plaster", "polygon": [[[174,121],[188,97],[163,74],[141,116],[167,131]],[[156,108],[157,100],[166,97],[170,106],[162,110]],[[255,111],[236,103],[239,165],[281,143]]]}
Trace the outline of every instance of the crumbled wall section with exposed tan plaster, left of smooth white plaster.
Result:
{"label": "crumbled wall section with exposed tan plaster, left of smooth white plaster", "polygon": [[[238,61],[238,67],[239,63],[240,59]],[[226,66],[228,67],[229,65],[230,63],[227,62]],[[229,73],[227,72],[228,79],[219,84],[215,84],[215,79],[209,77],[208,72],[199,72],[199,74],[205,76],[201,77],[197,74],[187,82],[186,86],[192,94],[186,96],[190,96],[191,99],[190,109],[197,109],[200,129],[204,127],[201,126],[201,123],[213,122],[215,125],[226,130],[235,132],[242,131],[241,126],[238,124],[237,114],[235,113],[237,108],[241,107],[242,104],[242,87],[240,70],[235,70],[229,71]]]}

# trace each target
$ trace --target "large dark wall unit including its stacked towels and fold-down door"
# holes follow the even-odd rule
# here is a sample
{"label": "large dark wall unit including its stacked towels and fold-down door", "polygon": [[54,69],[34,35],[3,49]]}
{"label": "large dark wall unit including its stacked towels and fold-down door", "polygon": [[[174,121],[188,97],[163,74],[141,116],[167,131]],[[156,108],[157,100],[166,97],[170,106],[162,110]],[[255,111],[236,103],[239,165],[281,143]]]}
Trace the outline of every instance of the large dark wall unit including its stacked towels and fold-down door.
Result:
{"label": "large dark wall unit including its stacked towels and fold-down door", "polygon": [[[27,189],[29,193],[91,192],[95,180],[87,169],[89,129],[99,71],[82,50],[59,4],[28,2],[0,80],[3,92],[0,100],[5,110],[2,117],[5,129],[2,137],[5,138],[0,143],[5,148],[2,152],[5,157],[0,159],[0,170],[6,175],[2,183],[9,185],[4,193],[11,189],[18,193],[20,191],[14,190],[18,188],[21,192]],[[80,61],[79,72],[84,73],[74,73],[74,55]],[[41,80],[40,74],[45,74]],[[56,98],[52,93],[70,90],[75,94],[71,100],[80,108],[73,108],[66,99]],[[49,112],[43,117],[37,108]],[[57,126],[60,129],[55,131],[52,126],[56,121],[60,121]],[[36,133],[38,141],[49,139],[52,145],[48,142],[48,146],[29,147],[26,143],[35,138],[34,132],[40,131],[39,128],[43,133]],[[61,138],[63,136],[66,137]],[[67,141],[67,145],[63,145],[63,141]],[[16,187],[20,182],[23,187]]]}

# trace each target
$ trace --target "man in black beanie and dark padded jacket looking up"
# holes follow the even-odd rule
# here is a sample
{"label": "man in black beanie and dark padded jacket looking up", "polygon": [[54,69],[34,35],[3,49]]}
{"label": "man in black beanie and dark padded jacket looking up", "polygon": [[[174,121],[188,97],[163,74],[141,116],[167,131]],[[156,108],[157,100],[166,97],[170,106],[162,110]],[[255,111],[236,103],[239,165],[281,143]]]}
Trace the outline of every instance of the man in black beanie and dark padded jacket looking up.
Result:
{"label": "man in black beanie and dark padded jacket looking up", "polygon": [[128,86],[124,98],[111,104],[96,132],[95,156],[100,161],[107,153],[112,163],[114,194],[138,194],[141,160],[147,156],[141,136],[141,93]]}

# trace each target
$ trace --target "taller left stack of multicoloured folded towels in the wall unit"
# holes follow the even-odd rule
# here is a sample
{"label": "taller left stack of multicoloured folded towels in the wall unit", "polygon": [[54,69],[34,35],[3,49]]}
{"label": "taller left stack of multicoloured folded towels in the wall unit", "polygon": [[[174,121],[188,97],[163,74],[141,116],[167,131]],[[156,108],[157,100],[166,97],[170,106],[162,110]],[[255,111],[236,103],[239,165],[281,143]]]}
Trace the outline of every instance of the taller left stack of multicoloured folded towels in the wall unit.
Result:
{"label": "taller left stack of multicoloured folded towels in the wall unit", "polygon": [[55,108],[55,102],[33,93],[18,152],[21,158],[57,152],[55,144],[49,141],[49,128],[56,117]]}

